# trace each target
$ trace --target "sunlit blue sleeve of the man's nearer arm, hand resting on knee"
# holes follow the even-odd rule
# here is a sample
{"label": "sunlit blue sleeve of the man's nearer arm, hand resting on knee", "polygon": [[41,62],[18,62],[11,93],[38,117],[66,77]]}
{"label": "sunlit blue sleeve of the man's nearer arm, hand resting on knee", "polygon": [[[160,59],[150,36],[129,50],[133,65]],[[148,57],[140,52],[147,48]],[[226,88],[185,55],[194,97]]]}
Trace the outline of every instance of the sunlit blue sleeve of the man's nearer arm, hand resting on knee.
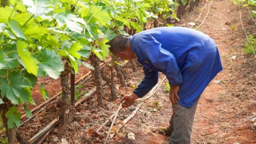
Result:
{"label": "sunlit blue sleeve of the man's nearer arm, hand resting on knee", "polygon": [[154,37],[148,37],[147,42],[140,45],[140,48],[142,54],[152,65],[166,75],[170,85],[180,85],[183,82],[175,56],[171,52],[163,49],[161,43],[157,42]]}

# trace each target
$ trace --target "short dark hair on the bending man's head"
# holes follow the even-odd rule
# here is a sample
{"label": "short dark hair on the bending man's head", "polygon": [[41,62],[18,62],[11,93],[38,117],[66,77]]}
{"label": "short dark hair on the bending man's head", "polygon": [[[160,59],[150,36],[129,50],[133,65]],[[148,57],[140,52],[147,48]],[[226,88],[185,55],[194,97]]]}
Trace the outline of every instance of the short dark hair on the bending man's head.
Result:
{"label": "short dark hair on the bending man's head", "polygon": [[110,45],[109,50],[112,54],[118,54],[120,51],[125,50],[125,45],[128,42],[130,36],[123,34],[116,34],[116,37],[108,42]]}

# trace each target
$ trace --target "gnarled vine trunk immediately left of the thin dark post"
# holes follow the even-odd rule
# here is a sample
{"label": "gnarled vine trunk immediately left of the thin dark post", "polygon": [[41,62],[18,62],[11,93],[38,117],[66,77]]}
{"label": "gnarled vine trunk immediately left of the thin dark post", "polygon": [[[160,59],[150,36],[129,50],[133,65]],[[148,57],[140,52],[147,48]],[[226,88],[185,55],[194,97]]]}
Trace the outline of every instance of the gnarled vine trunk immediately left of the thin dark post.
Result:
{"label": "gnarled vine trunk immediately left of the thin dark post", "polygon": [[70,94],[70,88],[68,84],[68,75],[70,73],[71,69],[67,62],[65,62],[64,65],[64,71],[61,72],[61,107],[58,110],[58,116],[59,116],[59,128],[58,128],[58,137],[64,136],[64,133],[66,131],[65,127],[65,111],[68,106],[71,106],[69,102],[69,94]]}

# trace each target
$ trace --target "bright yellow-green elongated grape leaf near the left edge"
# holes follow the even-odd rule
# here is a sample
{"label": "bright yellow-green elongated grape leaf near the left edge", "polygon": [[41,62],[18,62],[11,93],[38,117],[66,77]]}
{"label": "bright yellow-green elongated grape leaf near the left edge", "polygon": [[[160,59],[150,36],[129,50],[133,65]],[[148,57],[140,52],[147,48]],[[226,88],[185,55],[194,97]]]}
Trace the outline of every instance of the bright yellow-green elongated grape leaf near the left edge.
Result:
{"label": "bright yellow-green elongated grape leaf near the left edge", "polygon": [[17,41],[17,53],[20,55],[20,58],[22,59],[24,65],[26,66],[26,70],[29,73],[32,73],[33,75],[37,76],[38,73],[38,61],[37,59],[33,58],[28,50],[26,50],[28,44],[26,42]]}

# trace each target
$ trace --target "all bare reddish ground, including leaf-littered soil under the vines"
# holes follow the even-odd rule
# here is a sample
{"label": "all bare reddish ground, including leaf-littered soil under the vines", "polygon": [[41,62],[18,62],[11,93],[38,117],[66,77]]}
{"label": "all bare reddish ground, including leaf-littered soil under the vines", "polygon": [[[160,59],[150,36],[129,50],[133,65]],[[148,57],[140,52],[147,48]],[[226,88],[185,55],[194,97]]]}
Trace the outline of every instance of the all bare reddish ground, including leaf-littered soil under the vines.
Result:
{"label": "all bare reddish ground, including leaf-littered soil under the vines", "polygon": [[[188,25],[198,17],[204,3],[195,8],[192,13],[186,12],[182,21],[177,25],[191,27]],[[210,3],[210,1],[209,1]],[[207,15],[208,6],[204,9],[201,21]],[[248,34],[256,35],[256,27],[246,8],[241,8],[244,26]],[[202,94],[192,131],[192,144],[256,144],[256,128],[253,127],[253,118],[256,118],[256,59],[252,55],[242,52],[246,37],[241,28],[238,7],[224,0],[214,0],[209,8],[209,15],[199,31],[203,31],[212,37],[218,45],[224,71],[218,74],[208,85]],[[232,58],[233,57],[233,58]],[[125,94],[131,93],[134,85],[138,85],[143,79],[142,66],[138,64],[138,71],[132,72],[128,63],[123,68],[127,79],[127,87],[121,88],[119,80],[115,78],[117,99],[111,101],[109,87],[103,87],[105,93],[106,107],[99,108],[96,103],[96,95],[91,96],[84,103],[76,107],[74,120],[67,125],[66,140],[70,144],[99,144],[105,140],[111,121],[102,128],[99,135],[93,133],[99,128],[114,111],[116,111],[119,100]],[[106,71],[109,75],[109,71]],[[163,74],[160,74],[160,80]],[[108,144],[168,144],[169,138],[158,133],[157,127],[169,124],[172,115],[172,105],[166,92],[165,80],[160,89],[152,99],[143,103],[137,114],[114,136],[109,138]],[[88,88],[90,82],[82,86]],[[134,110],[138,103],[121,109],[116,124],[123,121]],[[47,114],[45,114],[47,113]],[[38,130],[41,130],[54,118],[54,113],[44,111],[20,127],[21,134],[29,139]],[[50,119],[47,118],[50,116]],[[256,122],[256,120],[254,121]],[[116,125],[113,131],[117,131]],[[61,143],[56,137],[58,128],[52,130],[46,138],[45,143]],[[128,133],[135,134],[135,140],[128,139]]]}

